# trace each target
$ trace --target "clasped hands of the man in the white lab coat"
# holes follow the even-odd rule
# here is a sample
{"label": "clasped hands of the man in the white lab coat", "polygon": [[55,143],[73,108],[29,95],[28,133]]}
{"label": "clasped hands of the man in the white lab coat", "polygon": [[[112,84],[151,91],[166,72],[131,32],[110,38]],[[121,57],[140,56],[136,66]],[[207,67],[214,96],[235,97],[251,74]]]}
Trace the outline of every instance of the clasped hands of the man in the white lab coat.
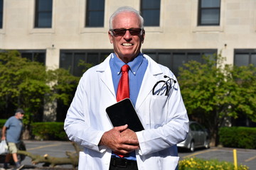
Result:
{"label": "clasped hands of the man in the white lab coat", "polygon": [[105,132],[100,140],[100,145],[109,147],[117,154],[128,154],[139,149],[137,135],[127,128],[128,125],[123,125]]}

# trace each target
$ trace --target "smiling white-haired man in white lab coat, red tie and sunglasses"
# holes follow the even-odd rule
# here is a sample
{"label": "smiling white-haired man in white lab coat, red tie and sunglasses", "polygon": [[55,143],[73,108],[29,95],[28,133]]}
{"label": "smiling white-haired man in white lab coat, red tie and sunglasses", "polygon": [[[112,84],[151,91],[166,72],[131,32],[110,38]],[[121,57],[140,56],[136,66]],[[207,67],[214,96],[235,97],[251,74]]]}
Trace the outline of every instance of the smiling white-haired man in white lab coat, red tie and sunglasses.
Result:
{"label": "smiling white-haired man in white lab coat, red tie and sunglasses", "polygon": [[[176,144],[186,138],[188,116],[174,74],[140,52],[143,24],[139,11],[118,8],[108,31],[114,52],[80,79],[64,125],[69,139],[84,147],[78,169],[178,167]],[[144,130],[113,128],[106,108],[124,98],[132,101]]]}

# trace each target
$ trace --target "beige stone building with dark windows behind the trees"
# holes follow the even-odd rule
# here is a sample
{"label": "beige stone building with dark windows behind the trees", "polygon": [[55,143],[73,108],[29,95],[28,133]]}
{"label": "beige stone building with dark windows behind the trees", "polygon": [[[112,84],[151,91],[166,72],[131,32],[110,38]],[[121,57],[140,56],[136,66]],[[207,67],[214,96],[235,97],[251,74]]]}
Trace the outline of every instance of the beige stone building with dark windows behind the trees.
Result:
{"label": "beige stone building with dark windows behind the trees", "polygon": [[108,18],[119,6],[142,11],[142,52],[175,74],[215,52],[256,64],[255,0],[0,0],[0,49],[79,76],[79,60],[97,64],[112,52]]}

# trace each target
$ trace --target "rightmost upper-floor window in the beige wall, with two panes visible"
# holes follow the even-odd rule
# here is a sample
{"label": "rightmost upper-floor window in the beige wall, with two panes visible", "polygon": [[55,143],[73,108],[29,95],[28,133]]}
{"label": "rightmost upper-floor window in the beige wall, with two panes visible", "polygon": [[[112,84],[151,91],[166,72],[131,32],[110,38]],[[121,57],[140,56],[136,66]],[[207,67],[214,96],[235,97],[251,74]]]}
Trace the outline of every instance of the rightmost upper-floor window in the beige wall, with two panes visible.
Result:
{"label": "rightmost upper-floor window in the beige wall, with two panes visible", "polygon": [[220,25],[220,0],[199,0],[198,26]]}

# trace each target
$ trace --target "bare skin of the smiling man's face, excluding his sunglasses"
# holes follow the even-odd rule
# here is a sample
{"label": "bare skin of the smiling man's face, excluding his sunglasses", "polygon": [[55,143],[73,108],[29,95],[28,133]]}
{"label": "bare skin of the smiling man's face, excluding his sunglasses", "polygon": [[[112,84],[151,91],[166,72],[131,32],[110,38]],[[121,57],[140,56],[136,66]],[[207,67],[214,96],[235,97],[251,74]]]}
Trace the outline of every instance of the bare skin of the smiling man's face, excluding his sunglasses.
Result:
{"label": "bare skin of the smiling man's face, excluding his sunglasses", "polygon": [[[140,28],[139,18],[132,12],[119,13],[114,17],[112,27],[112,29]],[[131,35],[129,30],[127,30],[124,35],[111,35],[109,31],[109,38],[114,46],[114,53],[125,63],[130,62],[134,57],[137,57],[144,41],[144,37],[144,31],[142,35]]]}

